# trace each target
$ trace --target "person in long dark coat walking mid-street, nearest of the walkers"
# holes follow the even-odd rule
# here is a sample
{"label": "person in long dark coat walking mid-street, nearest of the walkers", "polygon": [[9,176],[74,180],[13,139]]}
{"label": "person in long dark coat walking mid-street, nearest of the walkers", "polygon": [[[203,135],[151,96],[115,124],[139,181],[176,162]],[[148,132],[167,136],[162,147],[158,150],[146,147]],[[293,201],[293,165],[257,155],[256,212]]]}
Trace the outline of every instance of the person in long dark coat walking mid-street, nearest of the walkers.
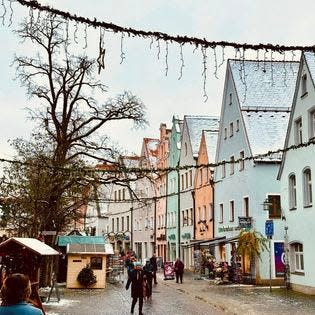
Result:
{"label": "person in long dark coat walking mid-street, nearest of the walkers", "polygon": [[132,271],[130,271],[128,281],[126,283],[126,290],[129,289],[129,286],[131,284],[131,297],[132,297],[131,314],[134,313],[135,306],[139,299],[139,315],[143,315],[142,313],[143,283],[144,283],[144,279],[143,279],[143,270],[142,270],[141,263],[135,262],[134,268]]}

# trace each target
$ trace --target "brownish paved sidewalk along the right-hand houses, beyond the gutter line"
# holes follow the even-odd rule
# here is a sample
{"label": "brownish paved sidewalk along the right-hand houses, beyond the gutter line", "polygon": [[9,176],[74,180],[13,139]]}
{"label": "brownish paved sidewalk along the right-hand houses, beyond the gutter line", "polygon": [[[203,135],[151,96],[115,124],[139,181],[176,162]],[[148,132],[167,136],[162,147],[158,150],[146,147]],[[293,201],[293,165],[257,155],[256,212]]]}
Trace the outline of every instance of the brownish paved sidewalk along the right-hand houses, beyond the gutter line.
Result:
{"label": "brownish paved sidewalk along the right-hand houses, beyond the gutter line", "polygon": [[159,281],[165,285],[193,296],[216,309],[228,314],[315,314],[315,297],[303,295],[284,288],[273,288],[255,285],[214,285],[213,281],[198,275],[185,272],[183,284],[175,280],[163,280],[162,273]]}

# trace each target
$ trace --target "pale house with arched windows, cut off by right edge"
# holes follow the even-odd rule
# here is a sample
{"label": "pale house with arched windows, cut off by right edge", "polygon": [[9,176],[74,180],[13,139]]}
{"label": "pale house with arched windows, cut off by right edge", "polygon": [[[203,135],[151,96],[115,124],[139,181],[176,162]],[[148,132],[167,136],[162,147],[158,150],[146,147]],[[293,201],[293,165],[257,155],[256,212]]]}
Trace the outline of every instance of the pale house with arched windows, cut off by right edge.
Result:
{"label": "pale house with arched windows, cut off by right edge", "polygon": [[[300,69],[292,105],[285,148],[315,137],[315,56],[306,52]],[[294,290],[315,294],[314,145],[284,153],[278,178],[281,203],[287,225],[290,283]]]}

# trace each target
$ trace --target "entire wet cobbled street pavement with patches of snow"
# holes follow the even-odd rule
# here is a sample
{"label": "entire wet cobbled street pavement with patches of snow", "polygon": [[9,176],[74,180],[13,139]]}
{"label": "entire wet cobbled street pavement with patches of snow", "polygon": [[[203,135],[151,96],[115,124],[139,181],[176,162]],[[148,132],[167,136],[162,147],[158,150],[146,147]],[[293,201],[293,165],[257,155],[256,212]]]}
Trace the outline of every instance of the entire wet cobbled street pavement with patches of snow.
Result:
{"label": "entire wet cobbled street pavement with patches of snow", "polygon": [[[214,285],[186,272],[183,284],[164,280],[158,273],[158,284],[153,287],[152,300],[144,304],[145,315],[204,315],[204,314],[315,314],[315,297],[253,285]],[[61,301],[54,296],[44,306],[47,315],[124,315],[130,314],[130,290],[125,283],[108,284],[106,289],[61,288]],[[136,308],[137,309],[137,308]]]}

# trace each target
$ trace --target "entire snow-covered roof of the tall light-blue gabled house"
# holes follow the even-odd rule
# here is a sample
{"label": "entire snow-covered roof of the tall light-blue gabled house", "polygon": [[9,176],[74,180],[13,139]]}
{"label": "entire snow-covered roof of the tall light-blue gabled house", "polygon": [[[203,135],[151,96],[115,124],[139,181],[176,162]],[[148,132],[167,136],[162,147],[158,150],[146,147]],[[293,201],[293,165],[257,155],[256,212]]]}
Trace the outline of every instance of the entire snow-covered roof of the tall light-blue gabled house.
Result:
{"label": "entire snow-covered roof of the tall light-blue gabled house", "polygon": [[[283,148],[299,63],[230,60],[229,65],[252,154]],[[262,160],[280,160],[281,155]]]}

